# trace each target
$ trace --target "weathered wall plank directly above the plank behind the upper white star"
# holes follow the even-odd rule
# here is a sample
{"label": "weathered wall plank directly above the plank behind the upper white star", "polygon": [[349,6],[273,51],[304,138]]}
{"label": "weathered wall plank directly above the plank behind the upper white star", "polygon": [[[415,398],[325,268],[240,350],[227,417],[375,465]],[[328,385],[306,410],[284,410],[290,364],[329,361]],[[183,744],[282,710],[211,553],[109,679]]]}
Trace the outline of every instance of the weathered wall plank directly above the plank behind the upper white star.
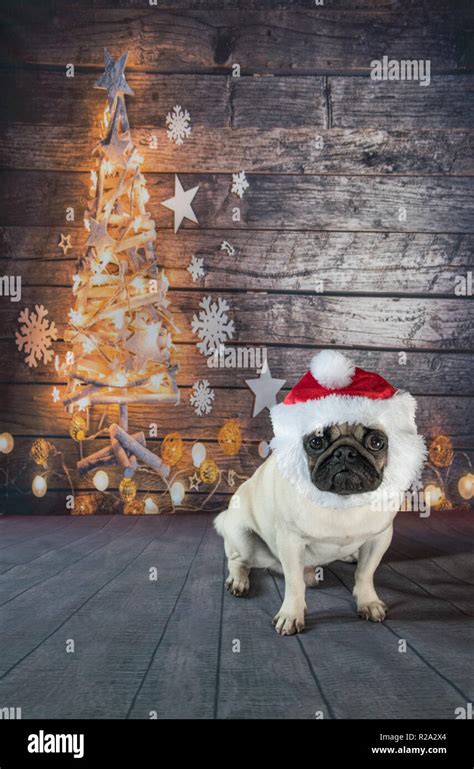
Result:
{"label": "weathered wall plank directly above the plank behind the upper white star", "polygon": [[[247,173],[364,176],[474,173],[472,130],[414,134],[379,129],[197,127],[177,150],[164,129],[138,128],[133,140],[145,159],[146,174],[230,174],[236,168]],[[157,148],[151,149],[155,140]],[[0,132],[0,167],[6,169],[87,171],[90,153],[90,136],[82,127],[12,124]]]}

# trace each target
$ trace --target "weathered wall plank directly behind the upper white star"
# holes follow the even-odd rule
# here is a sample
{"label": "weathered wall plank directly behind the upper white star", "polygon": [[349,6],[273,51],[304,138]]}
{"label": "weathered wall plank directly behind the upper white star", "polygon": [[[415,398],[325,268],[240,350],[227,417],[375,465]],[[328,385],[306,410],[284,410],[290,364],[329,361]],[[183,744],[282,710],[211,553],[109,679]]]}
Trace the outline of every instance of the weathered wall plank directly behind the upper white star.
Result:
{"label": "weathered wall plank directly behind the upper white star", "polygon": [[[199,185],[193,210],[200,227],[274,230],[382,230],[472,232],[474,203],[468,178],[258,175],[240,200],[228,175],[181,175],[183,187]],[[174,194],[174,177],[148,174],[148,209],[157,227],[171,228],[161,202]],[[67,206],[87,203],[89,176],[6,171],[0,189],[0,225],[64,227]],[[48,201],[45,207],[44,202]],[[241,221],[233,222],[233,209]],[[405,212],[405,213],[403,213]],[[80,220],[76,225],[81,226]],[[183,222],[183,228],[195,228]]]}

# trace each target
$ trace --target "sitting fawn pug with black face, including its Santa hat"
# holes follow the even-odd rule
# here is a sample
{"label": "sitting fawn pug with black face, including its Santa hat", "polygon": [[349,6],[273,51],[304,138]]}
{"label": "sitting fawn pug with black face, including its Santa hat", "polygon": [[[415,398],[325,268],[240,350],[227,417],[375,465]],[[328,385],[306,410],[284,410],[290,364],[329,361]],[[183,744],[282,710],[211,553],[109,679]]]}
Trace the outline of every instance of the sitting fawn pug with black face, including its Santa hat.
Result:
{"label": "sitting fawn pug with black face, including its Santa hat", "polygon": [[[234,596],[250,571],[282,573],[285,595],[273,625],[282,636],[305,626],[305,591],[315,569],[357,561],[353,596],[363,619],[387,607],[374,573],[390,545],[403,493],[426,456],[413,397],[380,375],[324,350],[284,401],[274,406],[272,453],[215,520],[224,538]],[[395,510],[395,512],[394,512]]]}

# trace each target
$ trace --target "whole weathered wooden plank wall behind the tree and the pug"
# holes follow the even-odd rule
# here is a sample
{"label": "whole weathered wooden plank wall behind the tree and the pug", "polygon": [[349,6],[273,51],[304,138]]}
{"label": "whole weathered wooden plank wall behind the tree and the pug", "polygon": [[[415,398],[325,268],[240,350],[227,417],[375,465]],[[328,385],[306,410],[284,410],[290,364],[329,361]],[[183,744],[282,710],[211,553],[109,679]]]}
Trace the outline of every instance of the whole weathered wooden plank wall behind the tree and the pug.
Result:
{"label": "whole weathered wooden plank wall behind the tree and the pug", "polygon": [[[350,350],[419,399],[428,439],[441,431],[472,452],[472,314],[454,293],[472,270],[473,91],[469,4],[418,0],[198,2],[63,0],[13,2],[4,11],[0,68],[0,262],[20,274],[21,304],[0,299],[0,426],[16,448],[1,466],[28,489],[31,441],[54,439],[72,466],[77,446],[68,418],[53,405],[54,369],[28,369],[14,345],[19,307],[43,303],[60,336],[71,306],[71,276],[85,241],[91,149],[104,92],[93,89],[103,48],[130,51],[127,97],[133,137],[145,156],[158,253],[171,281],[178,325],[182,404],[132,409],[132,426],[180,430],[188,447],[202,439],[221,468],[249,475],[257,445],[271,435],[268,413],[252,419],[249,370],[209,369],[190,329],[199,302],[225,297],[234,342],[266,346],[274,376],[293,385],[315,348]],[[431,84],[374,82],[370,62],[429,59]],[[66,78],[65,66],[75,65]],[[239,64],[241,76],[232,76]],[[165,115],[188,109],[192,135],[166,138]],[[149,146],[157,137],[157,149]],[[322,138],[323,149],[318,142]],[[250,189],[230,194],[230,174],[245,169]],[[177,235],[160,201],[173,174],[194,200],[199,225]],[[65,223],[66,206],[74,223]],[[241,221],[233,222],[239,205]],[[406,221],[400,221],[405,207]],[[62,256],[59,233],[72,234]],[[223,239],[236,249],[230,258]],[[207,274],[194,284],[192,254]],[[324,281],[322,294],[315,290]],[[60,340],[56,351],[62,354]],[[407,351],[406,365],[399,353]],[[194,415],[192,383],[216,390],[209,417]],[[244,446],[226,459],[216,437],[241,420]],[[154,444],[158,448],[159,441]],[[91,448],[96,448],[94,445]],[[189,455],[189,451],[188,451]],[[453,477],[463,467],[459,460]],[[190,461],[184,469],[191,472]],[[183,465],[184,467],[184,465]],[[459,470],[459,472],[458,472]],[[118,473],[111,473],[116,487]],[[75,479],[84,490],[90,479]],[[143,488],[153,487],[150,476]],[[65,512],[67,485],[50,483],[43,500],[10,490],[14,512]],[[230,491],[214,498],[225,503]],[[454,501],[455,488],[452,492]],[[188,494],[189,504],[202,495]]]}

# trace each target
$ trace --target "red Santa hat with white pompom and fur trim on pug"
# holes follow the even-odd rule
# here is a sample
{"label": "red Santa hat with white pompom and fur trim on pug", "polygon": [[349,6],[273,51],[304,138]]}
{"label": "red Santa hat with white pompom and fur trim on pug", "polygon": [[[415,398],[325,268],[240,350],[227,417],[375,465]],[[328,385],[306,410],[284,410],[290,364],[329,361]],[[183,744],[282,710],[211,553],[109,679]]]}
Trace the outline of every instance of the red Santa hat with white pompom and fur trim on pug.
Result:
{"label": "red Santa hat with white pompom and fur trim on pug", "polygon": [[[271,447],[280,472],[305,496],[325,507],[359,507],[375,495],[398,495],[408,489],[423,466],[426,447],[415,424],[416,401],[372,371],[357,368],[342,353],[323,350],[310,370],[273,406]],[[348,422],[379,428],[388,437],[387,465],[376,491],[342,497],[320,491],[311,482],[302,438]]]}

